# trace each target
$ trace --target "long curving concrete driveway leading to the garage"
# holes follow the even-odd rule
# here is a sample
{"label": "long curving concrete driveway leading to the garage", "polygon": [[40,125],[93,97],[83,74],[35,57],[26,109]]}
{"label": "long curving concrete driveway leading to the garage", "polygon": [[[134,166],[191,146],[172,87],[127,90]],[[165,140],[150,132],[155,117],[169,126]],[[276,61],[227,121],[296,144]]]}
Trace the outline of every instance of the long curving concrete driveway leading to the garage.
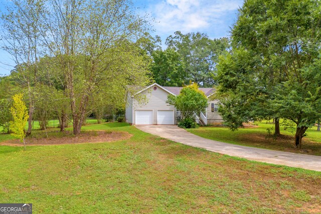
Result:
{"label": "long curving concrete driveway leading to the garage", "polygon": [[136,125],[138,129],[209,151],[278,165],[321,171],[321,156],[233,145],[196,136],[176,125]]}

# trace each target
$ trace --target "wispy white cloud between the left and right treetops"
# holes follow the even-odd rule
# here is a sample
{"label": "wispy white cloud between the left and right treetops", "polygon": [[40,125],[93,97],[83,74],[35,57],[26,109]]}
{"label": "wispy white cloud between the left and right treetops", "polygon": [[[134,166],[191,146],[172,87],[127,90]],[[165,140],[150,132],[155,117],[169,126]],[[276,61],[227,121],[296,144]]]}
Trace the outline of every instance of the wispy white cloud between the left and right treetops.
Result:
{"label": "wispy white cloud between the left and right treetops", "polygon": [[236,12],[242,3],[241,0],[163,0],[150,4],[147,10],[156,20],[158,33],[188,33],[223,25],[225,16]]}

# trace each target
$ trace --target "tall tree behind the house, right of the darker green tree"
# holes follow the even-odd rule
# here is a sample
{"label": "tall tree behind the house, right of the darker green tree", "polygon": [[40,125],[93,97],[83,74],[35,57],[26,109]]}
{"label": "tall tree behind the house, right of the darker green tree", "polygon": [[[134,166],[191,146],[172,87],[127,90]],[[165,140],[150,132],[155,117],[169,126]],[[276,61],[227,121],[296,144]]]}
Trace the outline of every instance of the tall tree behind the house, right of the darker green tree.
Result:
{"label": "tall tree behind the house, right of the darker green tree", "polygon": [[228,48],[227,38],[211,40],[206,34],[175,32],[166,39],[166,45],[176,50],[185,65],[184,81],[195,82],[202,87],[215,85],[218,56]]}

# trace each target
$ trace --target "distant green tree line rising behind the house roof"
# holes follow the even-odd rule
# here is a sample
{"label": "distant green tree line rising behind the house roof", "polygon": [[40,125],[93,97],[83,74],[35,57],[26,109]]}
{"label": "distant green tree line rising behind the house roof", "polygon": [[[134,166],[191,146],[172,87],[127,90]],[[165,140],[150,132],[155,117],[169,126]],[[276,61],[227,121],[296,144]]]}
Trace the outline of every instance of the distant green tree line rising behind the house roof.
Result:
{"label": "distant green tree line rising behind the house roof", "polygon": [[165,50],[157,36],[149,35],[138,43],[151,58],[154,81],[162,86],[184,86],[190,82],[201,87],[215,86],[219,55],[229,47],[227,38],[210,39],[207,34],[180,31],[166,39]]}

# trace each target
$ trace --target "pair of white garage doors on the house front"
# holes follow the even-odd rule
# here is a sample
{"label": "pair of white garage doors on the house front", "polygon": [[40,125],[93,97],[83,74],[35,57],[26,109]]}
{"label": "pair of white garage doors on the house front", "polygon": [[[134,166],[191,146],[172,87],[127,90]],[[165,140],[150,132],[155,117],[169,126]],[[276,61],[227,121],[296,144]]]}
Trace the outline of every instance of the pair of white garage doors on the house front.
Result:
{"label": "pair of white garage doors on the house front", "polygon": [[[157,125],[173,125],[174,124],[174,110],[156,110],[156,124]],[[135,113],[136,125],[152,125],[153,110],[136,110]]]}

